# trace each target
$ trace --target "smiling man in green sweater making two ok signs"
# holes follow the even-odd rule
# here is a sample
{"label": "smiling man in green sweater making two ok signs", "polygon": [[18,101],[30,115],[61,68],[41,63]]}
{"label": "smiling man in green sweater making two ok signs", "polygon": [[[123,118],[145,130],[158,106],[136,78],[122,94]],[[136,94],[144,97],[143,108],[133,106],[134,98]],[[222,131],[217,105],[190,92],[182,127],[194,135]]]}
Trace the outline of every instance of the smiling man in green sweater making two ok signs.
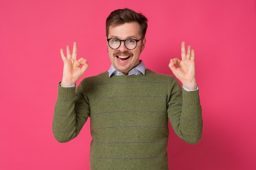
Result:
{"label": "smiling man in green sweater making two ok signs", "polygon": [[[76,81],[88,68],[76,61],[77,45],[64,62],[58,86],[53,133],[59,142],[76,137],[90,117],[92,170],[168,169],[168,120],[185,142],[202,136],[202,111],[195,81],[194,50],[182,42],[182,60],[171,59],[173,76],[145,69],[140,53],[146,44],[147,18],[130,9],[113,11],[106,20],[110,70]],[[175,65],[178,67],[176,68]],[[76,91],[76,92],[75,92]]]}

